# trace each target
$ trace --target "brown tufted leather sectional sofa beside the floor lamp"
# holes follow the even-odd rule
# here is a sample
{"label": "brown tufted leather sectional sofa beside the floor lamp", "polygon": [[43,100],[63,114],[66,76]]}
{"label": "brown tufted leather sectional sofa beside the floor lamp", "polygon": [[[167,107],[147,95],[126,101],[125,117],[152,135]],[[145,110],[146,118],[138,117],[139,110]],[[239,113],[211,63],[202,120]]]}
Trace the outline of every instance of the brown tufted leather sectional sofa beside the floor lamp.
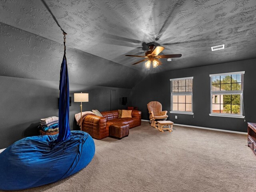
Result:
{"label": "brown tufted leather sectional sofa beside the floor lamp", "polygon": [[88,115],[82,122],[82,131],[96,139],[109,136],[108,128],[112,124],[129,124],[130,128],[141,125],[141,112],[132,111],[132,118],[118,118],[118,110],[101,112],[103,117]]}

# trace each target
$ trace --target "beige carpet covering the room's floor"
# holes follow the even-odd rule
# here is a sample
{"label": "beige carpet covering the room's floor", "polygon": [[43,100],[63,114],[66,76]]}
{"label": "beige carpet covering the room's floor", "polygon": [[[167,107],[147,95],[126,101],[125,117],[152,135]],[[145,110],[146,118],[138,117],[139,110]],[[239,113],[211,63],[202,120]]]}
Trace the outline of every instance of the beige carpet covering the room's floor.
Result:
{"label": "beige carpet covering the room's floor", "polygon": [[148,122],[128,137],[94,140],[95,156],[80,172],[26,192],[254,192],[256,156],[247,136]]}

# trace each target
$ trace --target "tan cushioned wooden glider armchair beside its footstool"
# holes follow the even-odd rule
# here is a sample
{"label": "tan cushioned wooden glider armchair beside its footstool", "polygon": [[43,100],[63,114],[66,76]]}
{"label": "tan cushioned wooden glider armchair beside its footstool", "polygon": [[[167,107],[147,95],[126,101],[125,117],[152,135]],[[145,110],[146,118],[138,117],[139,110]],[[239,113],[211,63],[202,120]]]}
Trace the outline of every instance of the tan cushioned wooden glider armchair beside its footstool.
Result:
{"label": "tan cushioned wooden glider armchair beside its footstool", "polygon": [[156,126],[156,120],[166,120],[167,111],[162,111],[162,104],[158,101],[151,101],[147,104],[151,126]]}

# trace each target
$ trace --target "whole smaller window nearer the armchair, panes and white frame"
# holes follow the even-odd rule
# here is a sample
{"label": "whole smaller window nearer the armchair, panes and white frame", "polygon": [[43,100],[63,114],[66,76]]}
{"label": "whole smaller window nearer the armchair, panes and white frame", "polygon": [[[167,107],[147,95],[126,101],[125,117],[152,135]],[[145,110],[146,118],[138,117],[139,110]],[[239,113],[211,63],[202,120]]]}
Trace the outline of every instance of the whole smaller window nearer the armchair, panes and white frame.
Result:
{"label": "whole smaller window nearer the armchair, panes and white frame", "polygon": [[170,113],[193,114],[192,89],[193,77],[170,79],[171,111]]}

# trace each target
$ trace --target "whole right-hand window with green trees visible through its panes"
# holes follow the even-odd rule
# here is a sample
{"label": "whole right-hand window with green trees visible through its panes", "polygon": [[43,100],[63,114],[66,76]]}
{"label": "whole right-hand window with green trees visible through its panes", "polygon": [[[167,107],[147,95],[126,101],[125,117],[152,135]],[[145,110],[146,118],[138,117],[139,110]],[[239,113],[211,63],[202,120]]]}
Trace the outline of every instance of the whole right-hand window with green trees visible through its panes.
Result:
{"label": "whole right-hand window with green trees visible through its panes", "polygon": [[210,116],[244,118],[243,76],[244,71],[210,75]]}

